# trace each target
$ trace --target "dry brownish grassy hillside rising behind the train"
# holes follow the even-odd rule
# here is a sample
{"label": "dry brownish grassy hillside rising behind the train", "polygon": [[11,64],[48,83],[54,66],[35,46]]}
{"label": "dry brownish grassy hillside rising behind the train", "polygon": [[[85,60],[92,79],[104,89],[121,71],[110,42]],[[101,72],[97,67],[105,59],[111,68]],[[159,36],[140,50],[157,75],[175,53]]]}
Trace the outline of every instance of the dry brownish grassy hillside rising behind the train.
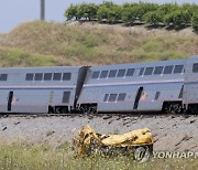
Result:
{"label": "dry brownish grassy hillside rising behind the train", "polygon": [[[25,53],[36,53],[44,59],[53,55],[53,65],[103,65],[198,54],[198,35],[190,29],[175,32],[142,26],[78,22],[64,25],[35,21],[1,35],[0,45],[7,50],[16,47]],[[30,63],[26,61],[22,65]],[[45,65],[45,62],[40,65]]]}

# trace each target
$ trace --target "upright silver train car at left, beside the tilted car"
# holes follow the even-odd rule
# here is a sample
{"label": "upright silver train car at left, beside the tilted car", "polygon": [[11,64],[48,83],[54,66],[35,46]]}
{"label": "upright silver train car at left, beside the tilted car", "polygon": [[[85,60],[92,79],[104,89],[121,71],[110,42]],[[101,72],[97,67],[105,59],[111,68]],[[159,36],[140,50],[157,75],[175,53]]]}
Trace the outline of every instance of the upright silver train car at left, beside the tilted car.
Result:
{"label": "upright silver train car at left, beside the tilted car", "polygon": [[86,66],[0,68],[0,113],[68,113]]}

